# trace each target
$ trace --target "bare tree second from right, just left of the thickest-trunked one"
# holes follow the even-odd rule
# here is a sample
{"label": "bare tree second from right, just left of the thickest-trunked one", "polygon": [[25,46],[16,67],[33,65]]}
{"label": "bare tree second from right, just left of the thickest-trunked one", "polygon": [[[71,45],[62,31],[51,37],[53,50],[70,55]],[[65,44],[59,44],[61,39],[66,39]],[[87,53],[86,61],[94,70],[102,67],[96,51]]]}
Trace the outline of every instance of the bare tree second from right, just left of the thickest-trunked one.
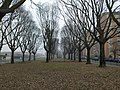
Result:
{"label": "bare tree second from right, just left of the thickest-trunked one", "polygon": [[80,12],[77,8],[75,8],[74,6],[68,7],[65,5],[65,7],[68,12],[66,13],[68,18],[70,18],[71,21],[74,22],[74,29],[72,30],[69,29],[69,30],[78,39],[82,37],[81,40],[83,41],[84,46],[87,49],[87,64],[90,64],[91,63],[90,62],[90,49],[95,44],[95,39],[93,39],[93,36],[91,35],[91,33],[88,32],[88,30],[92,30],[92,25],[91,23],[89,23],[89,20],[87,19],[87,17],[85,17],[84,14]]}

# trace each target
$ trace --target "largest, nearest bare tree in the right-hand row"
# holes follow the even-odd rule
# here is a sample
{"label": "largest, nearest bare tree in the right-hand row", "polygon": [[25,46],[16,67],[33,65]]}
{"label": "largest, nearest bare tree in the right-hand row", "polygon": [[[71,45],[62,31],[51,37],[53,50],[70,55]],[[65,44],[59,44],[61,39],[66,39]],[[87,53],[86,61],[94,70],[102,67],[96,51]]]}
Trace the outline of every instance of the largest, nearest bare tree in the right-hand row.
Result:
{"label": "largest, nearest bare tree in the right-hand row", "polygon": [[[63,1],[64,2],[64,1]],[[112,18],[109,13],[106,12],[104,6],[104,0],[72,0],[69,3],[64,2],[66,5],[73,6],[79,12],[82,12],[87,18],[88,22],[91,23],[93,30],[87,30],[91,33],[93,38],[100,45],[100,67],[105,67],[105,51],[104,45],[110,39],[116,36],[117,26],[111,23]],[[77,4],[76,4],[77,3]]]}

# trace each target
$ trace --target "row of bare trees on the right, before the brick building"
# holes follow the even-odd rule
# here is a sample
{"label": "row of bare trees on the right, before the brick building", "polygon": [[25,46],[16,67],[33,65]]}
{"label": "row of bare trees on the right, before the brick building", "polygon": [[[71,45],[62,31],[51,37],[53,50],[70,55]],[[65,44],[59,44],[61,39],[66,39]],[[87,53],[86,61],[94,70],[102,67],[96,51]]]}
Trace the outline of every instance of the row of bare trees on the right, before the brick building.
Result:
{"label": "row of bare trees on the right, before the brick building", "polygon": [[[100,46],[100,67],[105,67],[105,43],[117,36],[119,28],[118,0],[61,0],[61,14],[65,21],[63,42],[68,53],[87,49],[87,63],[90,62],[90,49],[97,42]],[[113,10],[114,8],[114,10]],[[109,12],[107,12],[109,9]],[[115,21],[115,22],[113,22]],[[77,41],[76,41],[77,40]],[[67,46],[68,45],[68,46]],[[67,50],[68,49],[68,50]],[[69,56],[69,54],[68,54]],[[81,54],[79,53],[79,61]]]}

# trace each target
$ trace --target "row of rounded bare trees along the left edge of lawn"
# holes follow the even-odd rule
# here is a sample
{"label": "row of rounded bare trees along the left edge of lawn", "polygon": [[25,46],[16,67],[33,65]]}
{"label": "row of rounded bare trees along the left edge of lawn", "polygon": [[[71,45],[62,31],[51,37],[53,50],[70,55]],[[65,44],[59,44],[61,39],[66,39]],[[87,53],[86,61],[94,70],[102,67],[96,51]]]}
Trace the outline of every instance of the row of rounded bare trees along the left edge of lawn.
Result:
{"label": "row of rounded bare trees along the left edge of lawn", "polygon": [[24,62],[25,52],[29,52],[29,61],[31,53],[35,54],[41,44],[41,32],[36,23],[30,17],[30,13],[22,7],[15,10],[14,13],[7,14],[1,22],[0,50],[3,45],[8,45],[11,50],[11,63],[14,63],[14,52],[20,48]]}

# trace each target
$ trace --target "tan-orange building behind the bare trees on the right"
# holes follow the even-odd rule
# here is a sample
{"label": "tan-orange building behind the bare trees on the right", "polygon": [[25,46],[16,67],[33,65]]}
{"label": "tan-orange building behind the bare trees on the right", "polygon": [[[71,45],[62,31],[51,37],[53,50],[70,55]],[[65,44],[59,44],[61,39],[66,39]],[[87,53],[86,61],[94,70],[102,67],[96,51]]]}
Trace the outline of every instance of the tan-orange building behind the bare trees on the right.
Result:
{"label": "tan-orange building behind the bare trees on the right", "polygon": [[[101,22],[104,22],[102,23],[103,27],[105,25],[105,20],[107,20],[108,15],[109,13],[107,12],[103,14],[103,17],[101,19]],[[114,13],[114,15],[117,19],[120,19],[120,12],[116,12]],[[110,25],[111,28],[116,27],[116,23],[113,20],[111,21],[111,23],[112,23]],[[113,32],[114,30],[115,29],[113,29]],[[117,31],[120,31],[120,28],[118,28]],[[86,49],[82,53],[83,53],[82,55],[84,56],[87,55]],[[99,44],[97,43],[91,48],[91,57],[99,56],[99,53],[100,53],[100,47]],[[120,37],[111,38],[105,43],[105,58],[107,59],[109,57],[120,58]]]}

